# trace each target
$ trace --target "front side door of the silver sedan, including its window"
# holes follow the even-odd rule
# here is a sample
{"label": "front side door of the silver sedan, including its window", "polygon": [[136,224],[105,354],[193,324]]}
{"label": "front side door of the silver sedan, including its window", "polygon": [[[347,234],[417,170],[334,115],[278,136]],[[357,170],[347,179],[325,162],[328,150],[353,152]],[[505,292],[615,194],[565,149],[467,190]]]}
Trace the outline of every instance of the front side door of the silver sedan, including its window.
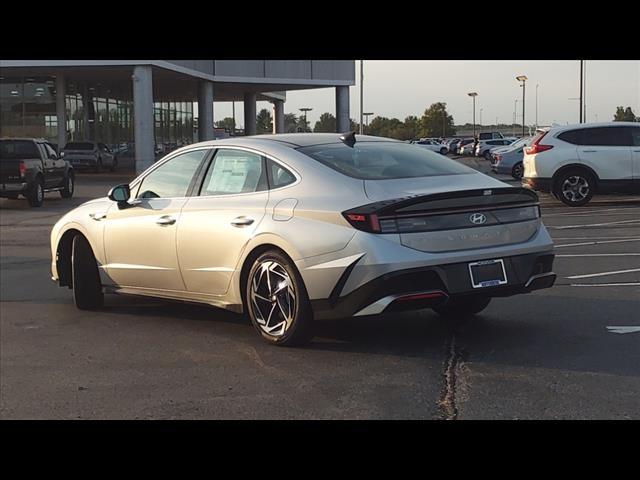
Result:
{"label": "front side door of the silver sedan, including its window", "polygon": [[178,268],[176,231],[180,212],[209,150],[192,150],[170,158],[133,187],[135,198],[117,204],[105,219],[105,271],[114,284],[183,291]]}

